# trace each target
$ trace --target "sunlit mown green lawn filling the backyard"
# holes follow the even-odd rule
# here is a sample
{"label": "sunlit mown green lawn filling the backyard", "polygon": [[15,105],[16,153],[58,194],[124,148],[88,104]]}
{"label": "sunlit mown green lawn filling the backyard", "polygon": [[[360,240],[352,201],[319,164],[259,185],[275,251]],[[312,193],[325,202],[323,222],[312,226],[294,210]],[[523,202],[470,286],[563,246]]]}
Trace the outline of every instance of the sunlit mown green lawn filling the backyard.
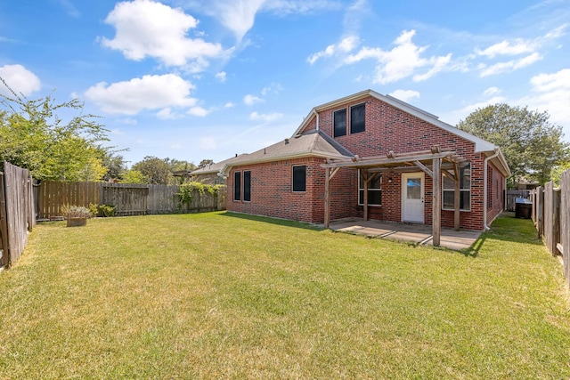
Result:
{"label": "sunlit mown green lawn filling the backyard", "polygon": [[38,225],[0,273],[0,378],[570,378],[530,221],[476,250],[209,213]]}

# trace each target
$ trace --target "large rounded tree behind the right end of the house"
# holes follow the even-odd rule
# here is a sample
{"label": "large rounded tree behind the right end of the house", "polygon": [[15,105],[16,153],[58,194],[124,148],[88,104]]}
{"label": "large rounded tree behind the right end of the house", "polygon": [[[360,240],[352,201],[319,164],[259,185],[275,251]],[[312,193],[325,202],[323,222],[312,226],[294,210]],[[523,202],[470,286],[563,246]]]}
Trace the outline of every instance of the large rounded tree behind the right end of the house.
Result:
{"label": "large rounded tree behind the right end of the house", "polygon": [[550,181],[552,167],[570,154],[570,144],[562,141],[562,127],[549,119],[546,111],[499,103],[476,109],[457,127],[501,147],[513,183],[525,177],[544,184]]}

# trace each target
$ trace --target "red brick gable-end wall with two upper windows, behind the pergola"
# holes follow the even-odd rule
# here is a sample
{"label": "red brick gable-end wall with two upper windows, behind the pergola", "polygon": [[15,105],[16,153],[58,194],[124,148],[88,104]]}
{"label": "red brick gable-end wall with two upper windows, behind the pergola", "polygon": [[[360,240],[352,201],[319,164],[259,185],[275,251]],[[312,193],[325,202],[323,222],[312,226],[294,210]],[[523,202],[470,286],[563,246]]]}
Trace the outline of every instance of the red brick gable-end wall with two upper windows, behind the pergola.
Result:
{"label": "red brick gable-end wall with two upper windows, behind the pergola", "polygon": [[[362,133],[350,134],[350,107],[357,104],[366,103],[366,130]],[[460,156],[471,162],[471,210],[461,211],[460,225],[468,230],[483,229],[483,204],[484,182],[483,163],[481,154],[474,152],[473,142],[464,140],[459,136],[444,131],[436,125],[431,125],[427,121],[414,117],[401,109],[379,101],[376,98],[368,97],[364,100],[346,103],[344,106],[335,106],[319,112],[319,129],[330,136],[333,135],[333,113],[338,109],[346,108],[346,136],[339,136],[335,140],[357,154],[361,158],[371,156],[383,156],[388,150],[394,150],[395,154],[406,153],[418,150],[428,150],[434,145],[439,145],[442,149],[455,150]],[[316,117],[313,117],[307,125],[307,129],[313,129],[316,125]],[[350,169],[344,169],[350,170]],[[362,215],[362,206],[357,206],[357,172],[352,170],[352,180],[354,195],[346,198],[343,204],[346,212],[356,210],[356,214]],[[387,182],[387,178],[382,184],[382,203],[380,207],[370,206],[371,218],[400,222],[401,217],[401,174],[393,173],[385,175],[392,176],[392,183]],[[331,183],[331,192],[346,191],[346,182],[340,182],[342,189],[338,189],[338,182]],[[433,191],[432,180],[426,175],[425,179],[425,214],[426,224],[432,222]],[[352,202],[351,205],[346,205]],[[331,206],[334,212],[335,206]],[[354,212],[346,214],[351,216]],[[334,219],[331,214],[331,219]],[[453,227],[453,212],[442,210],[442,225]]]}

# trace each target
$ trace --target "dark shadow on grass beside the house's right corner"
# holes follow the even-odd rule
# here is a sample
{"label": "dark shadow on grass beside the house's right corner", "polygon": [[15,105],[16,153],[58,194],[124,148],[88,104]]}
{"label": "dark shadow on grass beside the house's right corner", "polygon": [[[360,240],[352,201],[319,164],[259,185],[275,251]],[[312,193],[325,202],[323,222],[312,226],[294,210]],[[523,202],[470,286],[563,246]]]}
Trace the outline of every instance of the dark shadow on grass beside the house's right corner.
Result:
{"label": "dark shadow on grass beside the house's right corner", "polygon": [[521,243],[533,246],[543,246],[542,239],[538,238],[538,232],[530,219],[515,218],[514,213],[502,213],[487,230],[476,239],[473,246],[460,252],[466,256],[476,257],[485,247],[487,240],[501,240],[510,243]]}

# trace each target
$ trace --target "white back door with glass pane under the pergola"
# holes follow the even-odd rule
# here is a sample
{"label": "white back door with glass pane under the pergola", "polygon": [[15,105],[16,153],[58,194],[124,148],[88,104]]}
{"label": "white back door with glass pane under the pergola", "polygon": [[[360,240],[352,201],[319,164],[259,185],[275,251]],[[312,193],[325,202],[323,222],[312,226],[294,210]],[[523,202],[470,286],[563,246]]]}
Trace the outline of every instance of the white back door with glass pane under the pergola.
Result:
{"label": "white back door with glass pane under the pergola", "polygon": [[402,174],[402,222],[424,222],[424,173]]}

